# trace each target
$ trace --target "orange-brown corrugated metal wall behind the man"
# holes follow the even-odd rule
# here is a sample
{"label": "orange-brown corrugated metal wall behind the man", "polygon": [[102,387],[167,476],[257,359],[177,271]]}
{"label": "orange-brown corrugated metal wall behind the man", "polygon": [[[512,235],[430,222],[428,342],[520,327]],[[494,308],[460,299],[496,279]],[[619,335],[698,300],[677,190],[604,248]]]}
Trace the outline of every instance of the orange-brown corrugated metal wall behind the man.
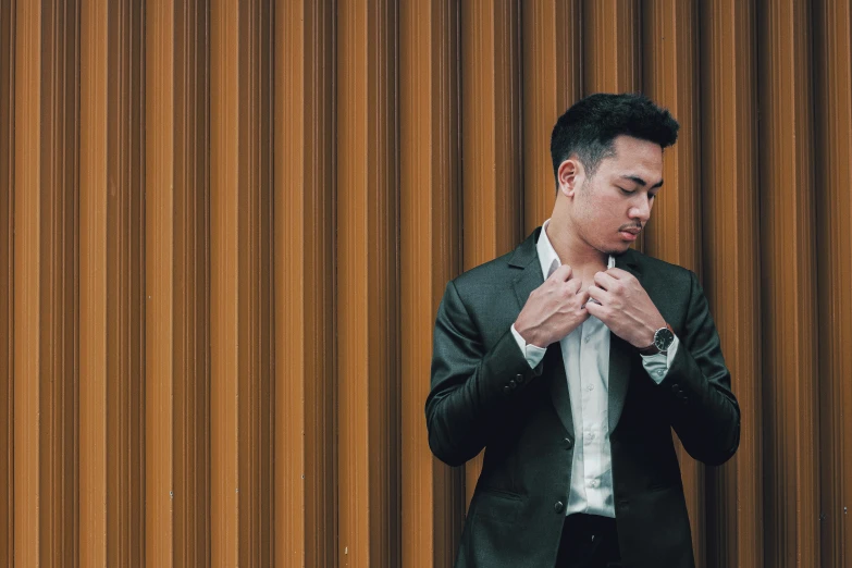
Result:
{"label": "orange-brown corrugated metal wall behind the man", "polygon": [[852,567],[852,15],[832,0],[0,2],[0,565],[449,566],[445,282],[548,215],[550,129],[682,125],[640,247],[743,415],[705,567]]}

